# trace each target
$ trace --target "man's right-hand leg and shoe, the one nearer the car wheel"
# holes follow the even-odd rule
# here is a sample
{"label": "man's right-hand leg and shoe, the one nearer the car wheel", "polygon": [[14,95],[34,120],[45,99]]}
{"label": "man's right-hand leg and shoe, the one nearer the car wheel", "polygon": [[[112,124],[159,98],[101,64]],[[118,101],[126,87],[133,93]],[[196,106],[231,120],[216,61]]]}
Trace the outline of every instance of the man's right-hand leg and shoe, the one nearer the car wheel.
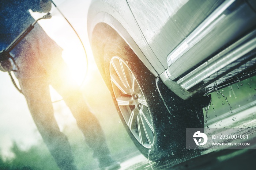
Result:
{"label": "man's right-hand leg and shoe, the one nearer the car wheel", "polygon": [[79,86],[74,83],[74,80],[69,75],[65,63],[61,63],[59,69],[55,74],[52,74],[54,77],[51,78],[53,80],[51,85],[63,97],[74,115],[78,127],[84,134],[86,143],[94,151],[94,157],[98,159],[100,166],[101,164],[102,166],[110,166],[116,163],[110,157],[105,135],[98,119],[90,111]]}

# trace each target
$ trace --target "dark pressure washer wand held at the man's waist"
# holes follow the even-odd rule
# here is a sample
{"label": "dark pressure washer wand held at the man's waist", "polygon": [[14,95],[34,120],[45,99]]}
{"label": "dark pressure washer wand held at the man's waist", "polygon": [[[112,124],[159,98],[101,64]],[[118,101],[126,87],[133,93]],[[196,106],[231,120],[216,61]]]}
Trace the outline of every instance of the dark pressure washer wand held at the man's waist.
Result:
{"label": "dark pressure washer wand held at the man's waist", "polygon": [[14,49],[14,47],[27,35],[29,34],[29,32],[31,30],[33,30],[34,25],[41,19],[50,19],[52,18],[52,15],[48,12],[46,15],[44,15],[42,18],[39,18],[37,20],[35,20],[35,22],[33,22],[32,24],[30,24],[29,27],[26,28],[26,30],[24,30],[22,33],[20,33],[19,36],[17,36],[17,38],[15,38],[12,43],[4,50],[5,52],[10,53],[10,51],[12,49]]}

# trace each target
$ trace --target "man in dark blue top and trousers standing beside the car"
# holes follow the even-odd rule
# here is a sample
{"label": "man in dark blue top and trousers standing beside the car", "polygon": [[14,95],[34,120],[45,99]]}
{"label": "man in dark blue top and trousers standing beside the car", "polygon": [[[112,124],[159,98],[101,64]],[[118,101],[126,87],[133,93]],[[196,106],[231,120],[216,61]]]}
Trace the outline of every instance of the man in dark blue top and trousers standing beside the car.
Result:
{"label": "man in dark blue top and trousers standing beside the car", "polygon": [[[4,50],[35,20],[29,9],[49,12],[49,0],[0,1],[0,50]],[[19,80],[30,113],[45,144],[62,170],[75,170],[74,158],[67,137],[60,132],[54,119],[49,85],[63,97],[86,143],[93,149],[102,169],[118,168],[110,157],[106,140],[96,117],[90,112],[78,85],[74,84],[61,58],[62,49],[35,24],[34,29],[11,51],[16,65],[13,70]],[[2,68],[3,71],[6,71]]]}

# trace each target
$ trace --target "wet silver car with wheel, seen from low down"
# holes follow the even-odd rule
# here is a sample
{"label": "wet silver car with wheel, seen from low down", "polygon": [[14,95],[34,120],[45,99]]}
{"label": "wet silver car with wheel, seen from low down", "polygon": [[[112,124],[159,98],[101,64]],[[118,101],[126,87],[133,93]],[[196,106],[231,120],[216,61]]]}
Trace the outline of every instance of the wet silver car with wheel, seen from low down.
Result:
{"label": "wet silver car with wheel, seen from low down", "polygon": [[[93,0],[95,62],[123,124],[152,161],[184,157],[210,92],[253,76],[253,0]],[[189,154],[191,154],[189,153]]]}

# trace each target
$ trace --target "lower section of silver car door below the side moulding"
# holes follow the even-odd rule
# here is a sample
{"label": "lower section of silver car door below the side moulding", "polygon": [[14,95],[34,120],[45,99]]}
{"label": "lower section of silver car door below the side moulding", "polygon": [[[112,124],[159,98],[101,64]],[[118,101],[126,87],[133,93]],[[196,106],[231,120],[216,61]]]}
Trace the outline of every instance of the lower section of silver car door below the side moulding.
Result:
{"label": "lower section of silver car door below the side moulding", "polygon": [[[219,10],[217,9],[217,11]],[[212,23],[207,24],[204,30],[195,33],[197,36],[191,38],[189,35],[183,41],[188,45],[187,50],[180,56],[176,56],[173,61],[168,61],[170,78],[172,80],[179,78],[200,62],[212,57],[242,38],[255,28],[256,23],[252,22],[255,20],[256,13],[247,3],[244,1],[241,1],[241,3],[235,1],[233,3],[231,1],[230,6],[220,13]],[[193,34],[194,32],[191,32],[192,36]],[[192,45],[190,46],[190,44]],[[178,67],[180,65],[182,67]]]}

